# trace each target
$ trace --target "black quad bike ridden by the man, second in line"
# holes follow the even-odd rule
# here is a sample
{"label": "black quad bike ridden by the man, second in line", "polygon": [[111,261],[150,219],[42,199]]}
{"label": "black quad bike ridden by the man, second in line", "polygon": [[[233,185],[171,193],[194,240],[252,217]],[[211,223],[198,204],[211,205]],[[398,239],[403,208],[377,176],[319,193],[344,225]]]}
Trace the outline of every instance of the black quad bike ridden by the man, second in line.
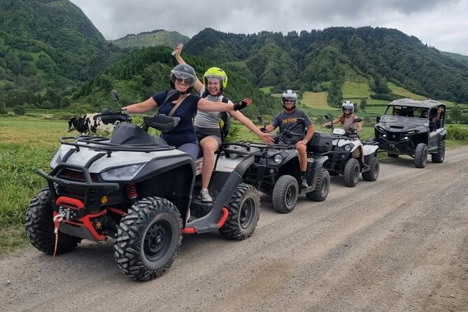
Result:
{"label": "black quad bike ridden by the man, second in line", "polygon": [[[257,117],[263,124],[262,116]],[[286,129],[277,134],[276,144],[247,143],[255,148],[255,162],[246,171],[244,181],[257,187],[258,190],[271,195],[273,208],[279,213],[290,213],[297,203],[299,194],[306,194],[312,201],[324,201],[329,192],[329,174],[322,164],[327,156],[309,159],[306,169],[306,180],[309,187],[302,188],[299,153],[294,146],[281,143],[285,135],[292,135]]]}

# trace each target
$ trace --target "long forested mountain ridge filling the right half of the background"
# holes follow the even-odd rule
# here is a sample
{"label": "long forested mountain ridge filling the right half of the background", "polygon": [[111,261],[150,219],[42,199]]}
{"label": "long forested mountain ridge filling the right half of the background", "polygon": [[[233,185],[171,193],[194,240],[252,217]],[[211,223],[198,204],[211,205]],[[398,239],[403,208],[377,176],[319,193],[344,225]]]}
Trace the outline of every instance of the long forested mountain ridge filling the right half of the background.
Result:
{"label": "long forested mountain ridge filling the right half of the background", "polygon": [[[344,80],[369,80],[391,99],[387,81],[433,99],[468,102],[468,65],[397,29],[331,27],[311,32],[225,34],[204,29],[184,51],[231,69],[258,87],[328,91],[339,101]],[[329,94],[330,96],[330,94]]]}

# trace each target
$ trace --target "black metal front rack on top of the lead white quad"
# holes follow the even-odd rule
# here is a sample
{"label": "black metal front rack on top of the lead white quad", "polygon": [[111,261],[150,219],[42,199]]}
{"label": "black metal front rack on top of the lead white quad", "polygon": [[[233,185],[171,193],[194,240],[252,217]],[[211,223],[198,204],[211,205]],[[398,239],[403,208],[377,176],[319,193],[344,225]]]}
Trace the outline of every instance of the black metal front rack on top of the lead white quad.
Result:
{"label": "black metal front rack on top of the lead white quad", "polygon": [[[73,141],[71,141],[73,140]],[[79,148],[91,148],[92,150],[105,151],[108,154],[112,152],[158,152],[161,150],[174,150],[173,146],[168,145],[157,145],[156,143],[144,143],[144,144],[115,144],[109,141],[106,136],[62,136],[59,138],[59,142],[69,146],[75,146]]]}

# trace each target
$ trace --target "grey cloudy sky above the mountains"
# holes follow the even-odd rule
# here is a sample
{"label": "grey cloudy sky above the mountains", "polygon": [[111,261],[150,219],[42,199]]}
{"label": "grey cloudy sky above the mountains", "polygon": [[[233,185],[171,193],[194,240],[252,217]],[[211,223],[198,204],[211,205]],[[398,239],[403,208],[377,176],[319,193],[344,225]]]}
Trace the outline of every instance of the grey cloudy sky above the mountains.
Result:
{"label": "grey cloudy sky above the mountains", "polygon": [[468,55],[468,0],[71,0],[108,40],[165,29],[194,36],[388,27],[435,48]]}

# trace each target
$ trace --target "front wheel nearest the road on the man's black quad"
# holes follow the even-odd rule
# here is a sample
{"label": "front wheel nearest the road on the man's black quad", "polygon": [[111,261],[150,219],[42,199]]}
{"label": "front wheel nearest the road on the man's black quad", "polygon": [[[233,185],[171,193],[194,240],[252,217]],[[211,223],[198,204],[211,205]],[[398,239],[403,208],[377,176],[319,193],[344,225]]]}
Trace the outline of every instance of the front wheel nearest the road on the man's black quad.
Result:
{"label": "front wheel nearest the road on the man's black quad", "polygon": [[278,178],[273,188],[271,201],[278,213],[290,213],[296,206],[299,197],[299,185],[293,176],[287,174]]}

